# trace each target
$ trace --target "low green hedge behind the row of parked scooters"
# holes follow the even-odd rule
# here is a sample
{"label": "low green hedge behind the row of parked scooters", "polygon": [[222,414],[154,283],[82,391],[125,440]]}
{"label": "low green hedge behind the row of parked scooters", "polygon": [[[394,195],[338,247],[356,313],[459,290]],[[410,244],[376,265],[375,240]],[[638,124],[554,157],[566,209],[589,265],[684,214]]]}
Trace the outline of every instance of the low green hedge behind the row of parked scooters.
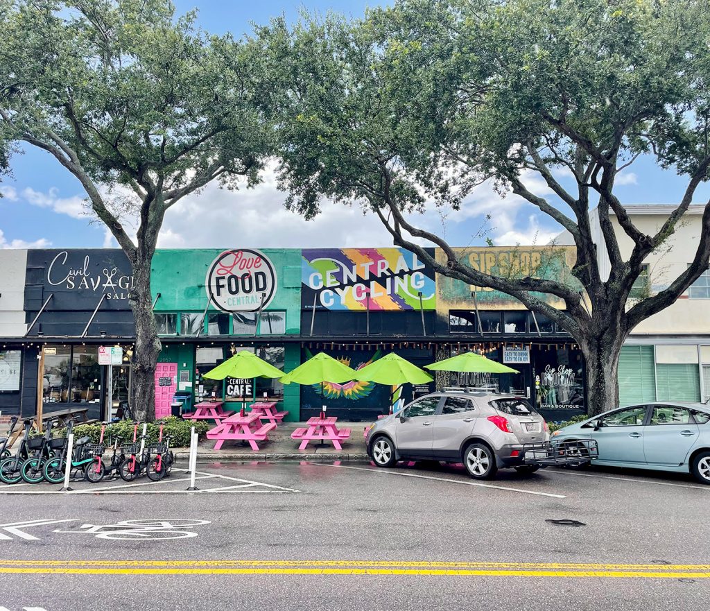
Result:
{"label": "low green hedge behind the row of parked scooters", "polygon": [[[210,428],[212,428],[212,423],[206,421],[187,421],[177,416],[168,416],[163,418],[163,423],[165,427],[163,428],[163,437],[170,436],[170,445],[174,448],[185,448],[190,445],[190,429],[194,426],[197,434],[204,438],[204,433],[207,433]],[[101,437],[101,425],[95,424],[80,424],[74,427],[74,438],[79,437],[89,437],[92,443],[98,443]],[[66,428],[57,428],[53,431],[54,437],[64,437],[67,434]],[[138,425],[138,440],[140,440],[143,434],[143,425]],[[156,443],[158,441],[158,435],[160,434],[160,428],[158,423],[151,422],[148,423],[148,430],[146,431],[146,442]],[[104,433],[104,442],[108,443],[109,439],[113,443],[114,439],[119,440],[120,443],[129,443],[133,440],[133,423],[127,420],[112,423],[107,428],[106,433]]]}

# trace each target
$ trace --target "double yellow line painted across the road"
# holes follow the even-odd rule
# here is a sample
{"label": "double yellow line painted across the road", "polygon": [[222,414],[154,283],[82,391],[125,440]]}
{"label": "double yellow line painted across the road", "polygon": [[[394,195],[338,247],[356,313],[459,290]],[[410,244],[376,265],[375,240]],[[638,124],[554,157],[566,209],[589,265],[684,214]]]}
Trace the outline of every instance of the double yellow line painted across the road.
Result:
{"label": "double yellow line painted across the road", "polygon": [[404,561],[0,560],[0,574],[55,575],[425,575],[708,579],[706,564],[569,564]]}

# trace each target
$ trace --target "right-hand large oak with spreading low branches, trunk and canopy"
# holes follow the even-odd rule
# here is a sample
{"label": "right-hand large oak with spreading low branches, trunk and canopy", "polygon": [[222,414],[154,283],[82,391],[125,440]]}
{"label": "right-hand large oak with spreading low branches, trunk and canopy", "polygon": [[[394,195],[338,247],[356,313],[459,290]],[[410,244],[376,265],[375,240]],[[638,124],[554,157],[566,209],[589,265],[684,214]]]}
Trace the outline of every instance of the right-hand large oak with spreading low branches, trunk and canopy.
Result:
{"label": "right-hand large oak with spreading low branches, trunk and canopy", "polygon": [[[665,288],[629,295],[709,178],[709,11],[702,0],[398,0],[362,21],[273,21],[262,43],[281,68],[281,180],[306,217],[322,198],[359,202],[395,244],[437,273],[518,298],[562,325],[586,359],[589,411],[618,404],[617,367],[635,325],[708,269],[710,205],[689,266]],[[685,180],[653,234],[615,188],[639,156]],[[561,177],[566,178],[561,178]],[[535,193],[544,180],[552,195]],[[501,278],[457,259],[417,210],[459,207],[477,185],[515,193],[567,230],[580,291],[555,279]],[[569,185],[572,184],[572,188]],[[599,269],[598,206],[611,274]],[[491,209],[493,222],[496,210]],[[621,232],[633,242],[622,256]],[[475,233],[475,229],[471,231]],[[439,263],[422,240],[443,249]],[[564,310],[535,293],[564,301]]]}

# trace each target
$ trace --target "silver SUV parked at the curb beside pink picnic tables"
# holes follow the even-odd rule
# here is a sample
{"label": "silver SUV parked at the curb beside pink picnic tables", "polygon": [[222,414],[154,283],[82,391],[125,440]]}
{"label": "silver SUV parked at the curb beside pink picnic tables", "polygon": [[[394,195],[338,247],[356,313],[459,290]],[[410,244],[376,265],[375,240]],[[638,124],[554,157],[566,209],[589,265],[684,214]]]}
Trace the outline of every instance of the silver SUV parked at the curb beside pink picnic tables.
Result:
{"label": "silver SUV parked at the curb beside pink picnic tables", "polygon": [[535,472],[537,465],[523,464],[525,450],[549,440],[547,423],[527,399],[471,390],[422,396],[366,433],[368,454],[378,467],[442,460],[464,463],[477,480],[490,480],[500,467]]}

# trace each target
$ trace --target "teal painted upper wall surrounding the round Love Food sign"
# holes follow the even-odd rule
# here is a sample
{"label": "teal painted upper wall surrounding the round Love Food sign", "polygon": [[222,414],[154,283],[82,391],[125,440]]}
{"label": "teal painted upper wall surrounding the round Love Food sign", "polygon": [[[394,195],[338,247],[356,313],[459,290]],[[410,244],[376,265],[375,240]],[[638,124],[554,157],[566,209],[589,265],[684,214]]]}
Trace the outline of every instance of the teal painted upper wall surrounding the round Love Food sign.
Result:
{"label": "teal painted upper wall surrounding the round Love Food sign", "polygon": [[[151,290],[156,312],[202,312],[207,305],[204,277],[209,264],[224,249],[165,249],[153,256]],[[301,252],[300,249],[262,249],[271,259],[278,276],[278,288],[266,310],[286,313],[286,332],[300,332]],[[217,311],[214,306],[210,312]]]}

